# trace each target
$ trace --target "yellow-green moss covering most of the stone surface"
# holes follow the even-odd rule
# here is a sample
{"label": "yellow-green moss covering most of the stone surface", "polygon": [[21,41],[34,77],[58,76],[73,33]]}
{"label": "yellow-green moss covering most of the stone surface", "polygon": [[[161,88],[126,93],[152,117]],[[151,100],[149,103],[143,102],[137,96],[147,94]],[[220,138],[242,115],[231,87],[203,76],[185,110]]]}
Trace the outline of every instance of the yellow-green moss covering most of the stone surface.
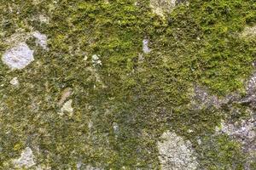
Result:
{"label": "yellow-green moss covering most of the stone surface", "polygon": [[[0,64],[1,169],[11,169],[11,159],[26,146],[39,150],[38,165],[52,169],[76,169],[79,161],[105,169],[159,169],[156,142],[166,129],[194,144],[201,168],[244,169],[240,144],[211,136],[232,111],[193,111],[189,103],[195,84],[219,96],[244,94],[256,41],[239,35],[256,24],[254,0],[193,0],[165,18],[152,12],[148,0],[35,2],[0,0],[1,55],[19,29],[49,38],[49,51],[26,41],[35,50],[26,69]],[[49,24],[40,23],[40,14]],[[143,54],[143,38],[149,54]],[[102,65],[92,65],[93,54]],[[19,77],[18,88],[9,84],[13,77]],[[65,88],[73,89],[73,116],[57,114]],[[247,116],[245,105],[236,107],[236,120]]]}

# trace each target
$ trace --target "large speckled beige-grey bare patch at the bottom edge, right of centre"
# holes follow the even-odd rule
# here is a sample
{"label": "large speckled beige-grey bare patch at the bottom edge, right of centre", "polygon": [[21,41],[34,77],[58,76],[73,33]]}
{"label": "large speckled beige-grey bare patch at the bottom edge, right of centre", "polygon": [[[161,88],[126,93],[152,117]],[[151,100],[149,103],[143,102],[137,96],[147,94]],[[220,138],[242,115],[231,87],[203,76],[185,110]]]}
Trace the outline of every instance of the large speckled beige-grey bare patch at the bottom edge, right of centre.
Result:
{"label": "large speckled beige-grey bare patch at the bottom edge, right of centre", "polygon": [[167,131],[161,136],[157,146],[160,152],[162,170],[194,170],[198,166],[189,141],[184,141],[176,133]]}

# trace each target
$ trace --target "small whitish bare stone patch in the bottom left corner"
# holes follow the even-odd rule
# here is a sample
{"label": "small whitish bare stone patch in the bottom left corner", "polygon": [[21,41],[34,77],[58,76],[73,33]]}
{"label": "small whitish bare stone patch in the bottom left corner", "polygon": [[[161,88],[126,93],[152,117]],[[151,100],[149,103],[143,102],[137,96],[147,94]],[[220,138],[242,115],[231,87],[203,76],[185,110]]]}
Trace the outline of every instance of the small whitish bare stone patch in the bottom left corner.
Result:
{"label": "small whitish bare stone patch in the bottom left corner", "polygon": [[22,151],[20,158],[15,159],[13,163],[15,167],[19,167],[19,168],[21,167],[29,168],[36,164],[34,161],[32,150],[29,147],[26,147],[26,149]]}

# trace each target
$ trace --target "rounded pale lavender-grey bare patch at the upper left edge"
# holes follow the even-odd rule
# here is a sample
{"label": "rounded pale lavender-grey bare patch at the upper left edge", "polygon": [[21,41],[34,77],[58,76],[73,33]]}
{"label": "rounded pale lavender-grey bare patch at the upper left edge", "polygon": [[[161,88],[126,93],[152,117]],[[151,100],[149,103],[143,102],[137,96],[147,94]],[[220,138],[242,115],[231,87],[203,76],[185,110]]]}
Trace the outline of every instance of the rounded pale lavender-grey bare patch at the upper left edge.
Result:
{"label": "rounded pale lavender-grey bare patch at the upper left edge", "polygon": [[24,69],[33,60],[33,50],[26,45],[26,42],[8,49],[2,57],[3,64],[8,65],[11,70]]}

